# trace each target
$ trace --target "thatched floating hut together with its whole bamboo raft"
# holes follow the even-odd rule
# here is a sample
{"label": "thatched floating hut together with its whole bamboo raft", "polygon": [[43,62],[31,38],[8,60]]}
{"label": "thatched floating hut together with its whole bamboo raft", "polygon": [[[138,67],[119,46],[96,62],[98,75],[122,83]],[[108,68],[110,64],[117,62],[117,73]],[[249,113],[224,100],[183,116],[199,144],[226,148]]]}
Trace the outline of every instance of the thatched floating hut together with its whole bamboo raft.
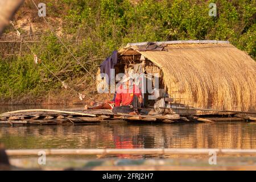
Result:
{"label": "thatched floating hut together with its whole bamboo raft", "polygon": [[[143,81],[135,78],[146,75],[146,84],[151,82],[154,87],[152,92],[143,93],[146,106],[143,109],[147,112],[130,115],[83,107],[19,110],[0,114],[0,124],[74,125],[116,119],[163,123],[256,122],[255,115],[251,115],[256,114],[256,62],[229,42],[130,43],[114,51],[100,68],[98,74],[109,74],[109,69],[114,69],[114,77],[119,73],[134,76],[135,84],[141,89],[144,89]],[[158,76],[152,76],[154,73]],[[158,85],[154,85],[156,79]],[[148,99],[152,95],[155,99]]]}

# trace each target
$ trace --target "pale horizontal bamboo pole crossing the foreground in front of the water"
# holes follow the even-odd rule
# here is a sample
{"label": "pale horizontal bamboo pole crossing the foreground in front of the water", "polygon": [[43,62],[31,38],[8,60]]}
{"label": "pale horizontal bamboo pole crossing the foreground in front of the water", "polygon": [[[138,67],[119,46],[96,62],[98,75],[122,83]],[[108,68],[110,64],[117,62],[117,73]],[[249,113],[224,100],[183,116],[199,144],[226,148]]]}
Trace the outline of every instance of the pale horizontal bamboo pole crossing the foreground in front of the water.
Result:
{"label": "pale horizontal bamboo pole crossing the foreground in front of the water", "polygon": [[46,155],[209,155],[209,152],[228,155],[256,155],[256,149],[219,149],[219,148],[133,148],[133,149],[25,149],[6,150],[9,156],[38,155],[40,151]]}

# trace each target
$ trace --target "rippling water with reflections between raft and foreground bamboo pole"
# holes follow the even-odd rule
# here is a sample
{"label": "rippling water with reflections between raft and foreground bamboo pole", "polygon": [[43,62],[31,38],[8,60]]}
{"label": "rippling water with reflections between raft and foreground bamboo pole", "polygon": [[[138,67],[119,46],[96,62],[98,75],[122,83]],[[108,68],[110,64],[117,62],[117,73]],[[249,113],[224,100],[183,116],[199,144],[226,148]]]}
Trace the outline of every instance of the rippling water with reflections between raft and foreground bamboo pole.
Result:
{"label": "rippling water with reflections between raft and foreground bamboo pole", "polygon": [[256,148],[255,123],[0,127],[0,142],[16,148]]}

